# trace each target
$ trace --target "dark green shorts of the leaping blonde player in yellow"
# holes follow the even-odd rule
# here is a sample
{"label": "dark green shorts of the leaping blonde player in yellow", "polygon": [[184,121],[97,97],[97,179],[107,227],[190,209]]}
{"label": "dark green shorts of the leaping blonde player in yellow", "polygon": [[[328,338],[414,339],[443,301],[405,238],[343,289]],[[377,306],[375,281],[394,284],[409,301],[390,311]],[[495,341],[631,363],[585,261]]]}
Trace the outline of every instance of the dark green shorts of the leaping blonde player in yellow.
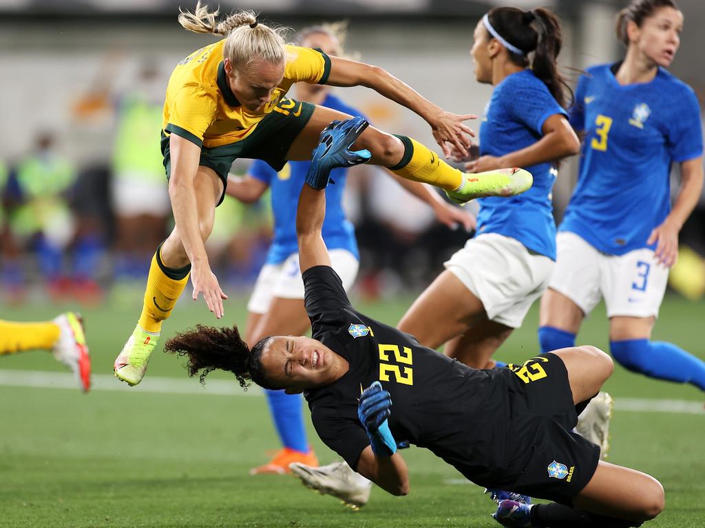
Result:
{"label": "dark green shorts of the leaping blonde player in yellow", "polygon": [[[255,131],[237,143],[214,146],[212,149],[202,147],[199,165],[212,168],[223,180],[223,194],[218,201],[220,205],[225,197],[233,161],[238,158],[250,158],[266,161],[271,168],[279,172],[286,165],[286,153],[294,139],[303,130],[316,106],[312,103],[282,99],[278,108],[283,112],[272,111],[257,124]],[[161,154],[164,156],[166,179],[171,176],[171,157],[169,155],[169,137],[161,131]]]}

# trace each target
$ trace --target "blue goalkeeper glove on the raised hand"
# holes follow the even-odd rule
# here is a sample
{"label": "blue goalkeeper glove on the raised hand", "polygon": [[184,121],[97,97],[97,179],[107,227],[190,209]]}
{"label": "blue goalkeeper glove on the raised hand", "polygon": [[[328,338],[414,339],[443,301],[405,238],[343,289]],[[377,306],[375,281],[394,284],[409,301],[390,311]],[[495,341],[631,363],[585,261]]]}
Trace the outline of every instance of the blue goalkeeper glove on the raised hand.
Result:
{"label": "blue goalkeeper glove on the raised hand", "polygon": [[331,170],[337,167],[352,167],[366,163],[372,158],[367,150],[350,151],[357,137],[369,123],[362,118],[333,121],[321,132],[321,139],[311,157],[311,166],[306,175],[306,183],[314,189],[325,189]]}

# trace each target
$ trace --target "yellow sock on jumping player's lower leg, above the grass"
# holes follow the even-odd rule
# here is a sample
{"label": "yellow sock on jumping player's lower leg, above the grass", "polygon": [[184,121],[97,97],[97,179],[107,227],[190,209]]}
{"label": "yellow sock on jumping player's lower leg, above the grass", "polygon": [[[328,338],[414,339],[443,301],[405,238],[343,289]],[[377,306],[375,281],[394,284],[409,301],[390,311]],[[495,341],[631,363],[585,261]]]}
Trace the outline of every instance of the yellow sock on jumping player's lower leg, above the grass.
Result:
{"label": "yellow sock on jumping player's lower leg, above the grass", "polygon": [[176,301],[188,282],[191,266],[178,270],[167,268],[161,261],[161,244],[152,257],[145,290],[145,304],[142,306],[140,326],[147,332],[157,333],[161,322],[171,315]]}

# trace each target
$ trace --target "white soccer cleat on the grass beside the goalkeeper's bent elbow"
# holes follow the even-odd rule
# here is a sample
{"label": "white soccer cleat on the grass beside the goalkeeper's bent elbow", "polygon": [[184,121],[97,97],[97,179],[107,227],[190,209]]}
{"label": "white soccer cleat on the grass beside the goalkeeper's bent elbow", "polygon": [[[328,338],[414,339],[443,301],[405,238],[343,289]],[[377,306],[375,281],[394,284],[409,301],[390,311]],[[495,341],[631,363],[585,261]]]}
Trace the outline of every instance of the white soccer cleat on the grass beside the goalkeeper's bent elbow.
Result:
{"label": "white soccer cleat on the grass beside the goalkeeper's bent elbow", "polygon": [[337,497],[353,509],[361,508],[369,500],[372,482],[354,472],[345,462],[319,467],[294,462],[289,465],[289,469],[307,488],[321,495]]}

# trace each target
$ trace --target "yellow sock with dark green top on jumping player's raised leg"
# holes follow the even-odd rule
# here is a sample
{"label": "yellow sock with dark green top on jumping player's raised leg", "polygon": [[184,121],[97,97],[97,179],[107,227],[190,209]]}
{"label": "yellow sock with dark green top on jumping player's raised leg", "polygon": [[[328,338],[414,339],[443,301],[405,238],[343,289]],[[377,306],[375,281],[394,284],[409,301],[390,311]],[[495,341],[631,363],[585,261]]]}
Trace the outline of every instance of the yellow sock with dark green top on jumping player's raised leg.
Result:
{"label": "yellow sock with dark green top on jumping player's raised leg", "polygon": [[389,168],[407,180],[424,182],[441,187],[446,191],[455,191],[462,183],[462,172],[441,160],[427,146],[406,136],[399,136],[404,144],[404,157],[394,167]]}

